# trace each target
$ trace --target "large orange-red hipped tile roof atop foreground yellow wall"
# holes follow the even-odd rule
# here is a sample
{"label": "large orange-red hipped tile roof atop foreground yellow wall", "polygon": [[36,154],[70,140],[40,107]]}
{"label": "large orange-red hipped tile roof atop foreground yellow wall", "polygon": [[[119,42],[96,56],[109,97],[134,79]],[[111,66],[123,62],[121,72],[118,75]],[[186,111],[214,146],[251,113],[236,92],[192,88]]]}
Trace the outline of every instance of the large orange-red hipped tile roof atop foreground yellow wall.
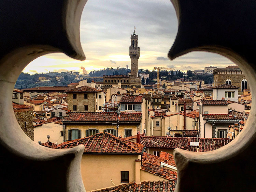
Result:
{"label": "large orange-red hipped tile roof atop foreground yellow wall", "polygon": [[104,154],[142,154],[144,146],[139,143],[133,143],[118,137],[115,137],[111,133],[97,133],[89,137],[82,139],[75,139],[61,143],[54,149],[66,149],[72,148],[77,145],[84,145],[84,153],[104,153]]}

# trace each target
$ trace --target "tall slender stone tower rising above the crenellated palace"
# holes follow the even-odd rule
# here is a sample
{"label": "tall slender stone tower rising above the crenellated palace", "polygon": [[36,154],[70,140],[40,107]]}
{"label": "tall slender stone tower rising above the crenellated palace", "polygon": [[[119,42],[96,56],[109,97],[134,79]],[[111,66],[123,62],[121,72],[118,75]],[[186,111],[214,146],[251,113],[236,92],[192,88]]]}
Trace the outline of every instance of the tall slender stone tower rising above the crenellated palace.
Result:
{"label": "tall slender stone tower rising above the crenellated palace", "polygon": [[130,46],[131,76],[132,77],[138,77],[139,57],[140,57],[140,48],[138,47],[138,35],[136,35],[135,27],[134,27],[133,34],[131,35],[131,46]]}

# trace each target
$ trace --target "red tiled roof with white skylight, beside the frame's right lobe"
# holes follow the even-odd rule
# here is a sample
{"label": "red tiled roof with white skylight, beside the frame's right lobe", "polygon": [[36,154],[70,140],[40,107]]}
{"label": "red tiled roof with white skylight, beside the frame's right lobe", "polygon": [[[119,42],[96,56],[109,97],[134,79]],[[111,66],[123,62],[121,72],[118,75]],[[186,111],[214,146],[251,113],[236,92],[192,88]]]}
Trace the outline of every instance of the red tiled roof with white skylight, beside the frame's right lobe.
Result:
{"label": "red tiled roof with white skylight, beside the frame's right lobe", "polygon": [[[197,138],[190,138],[191,142],[196,142]],[[188,151],[197,151],[197,147],[199,148],[199,152],[212,151],[218,148],[221,148],[227,145],[232,139],[228,138],[198,138],[199,146],[188,146]]]}

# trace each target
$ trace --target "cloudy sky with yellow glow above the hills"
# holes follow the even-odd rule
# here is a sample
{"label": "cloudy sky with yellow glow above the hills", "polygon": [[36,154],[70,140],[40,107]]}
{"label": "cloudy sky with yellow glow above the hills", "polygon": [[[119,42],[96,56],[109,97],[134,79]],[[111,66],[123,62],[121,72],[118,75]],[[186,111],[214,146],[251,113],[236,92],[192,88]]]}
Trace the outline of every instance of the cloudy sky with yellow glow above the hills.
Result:
{"label": "cloudy sky with yellow glow above the hills", "polygon": [[234,65],[221,55],[192,52],[170,61],[167,58],[177,33],[177,18],[170,0],[88,0],[81,17],[80,38],[85,61],[63,53],[41,56],[28,64],[24,73],[79,71],[107,67],[130,68],[130,34],[134,26],[140,47],[139,69],[171,67],[201,70],[206,66]]}

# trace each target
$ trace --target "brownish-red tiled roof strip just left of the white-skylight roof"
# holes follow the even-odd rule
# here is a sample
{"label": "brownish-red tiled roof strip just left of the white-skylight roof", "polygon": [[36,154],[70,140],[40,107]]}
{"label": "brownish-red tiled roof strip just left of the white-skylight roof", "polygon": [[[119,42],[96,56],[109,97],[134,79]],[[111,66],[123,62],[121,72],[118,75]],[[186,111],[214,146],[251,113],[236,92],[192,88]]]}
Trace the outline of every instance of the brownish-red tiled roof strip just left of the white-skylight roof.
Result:
{"label": "brownish-red tiled roof strip just left of the white-skylight roof", "polygon": [[146,147],[186,149],[188,145],[188,138],[142,136],[141,144]]}

